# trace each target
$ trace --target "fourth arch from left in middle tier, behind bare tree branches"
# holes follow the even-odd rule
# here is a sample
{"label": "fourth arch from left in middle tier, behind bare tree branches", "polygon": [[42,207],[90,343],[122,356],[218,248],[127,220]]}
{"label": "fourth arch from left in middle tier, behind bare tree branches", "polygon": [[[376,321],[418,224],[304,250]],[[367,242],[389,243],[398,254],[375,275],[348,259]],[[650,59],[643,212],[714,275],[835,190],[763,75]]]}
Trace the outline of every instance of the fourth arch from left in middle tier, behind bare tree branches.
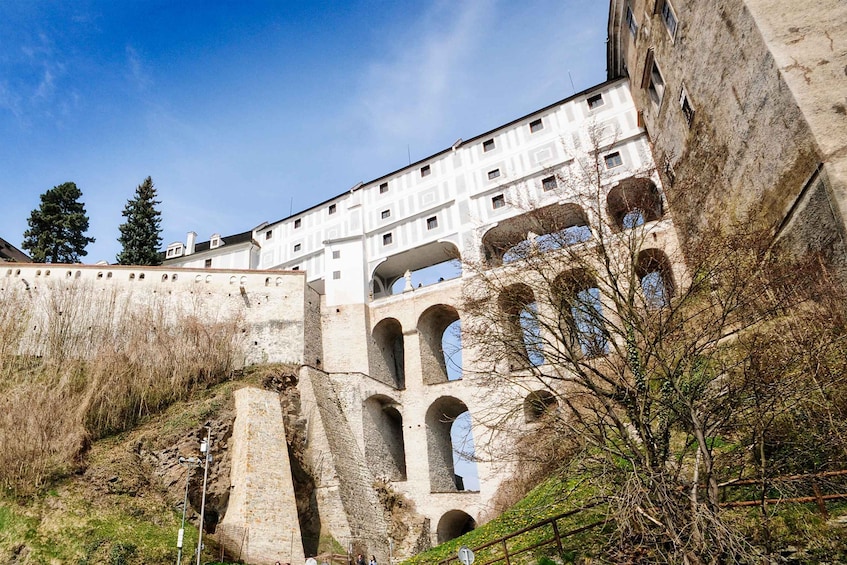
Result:
{"label": "fourth arch from left in middle tier, behind bare tree branches", "polygon": [[559,326],[567,328],[569,345],[579,348],[585,357],[609,352],[600,288],[594,276],[584,269],[560,274],[553,281]]}

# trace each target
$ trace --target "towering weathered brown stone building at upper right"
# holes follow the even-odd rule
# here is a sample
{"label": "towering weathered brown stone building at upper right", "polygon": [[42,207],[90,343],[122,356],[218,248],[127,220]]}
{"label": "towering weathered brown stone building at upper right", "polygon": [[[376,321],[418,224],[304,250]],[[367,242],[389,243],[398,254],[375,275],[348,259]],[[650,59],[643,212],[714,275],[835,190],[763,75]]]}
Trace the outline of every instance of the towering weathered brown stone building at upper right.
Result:
{"label": "towering weathered brown stone building at upper right", "polygon": [[847,3],[612,0],[607,69],[684,240],[749,222],[847,274]]}

